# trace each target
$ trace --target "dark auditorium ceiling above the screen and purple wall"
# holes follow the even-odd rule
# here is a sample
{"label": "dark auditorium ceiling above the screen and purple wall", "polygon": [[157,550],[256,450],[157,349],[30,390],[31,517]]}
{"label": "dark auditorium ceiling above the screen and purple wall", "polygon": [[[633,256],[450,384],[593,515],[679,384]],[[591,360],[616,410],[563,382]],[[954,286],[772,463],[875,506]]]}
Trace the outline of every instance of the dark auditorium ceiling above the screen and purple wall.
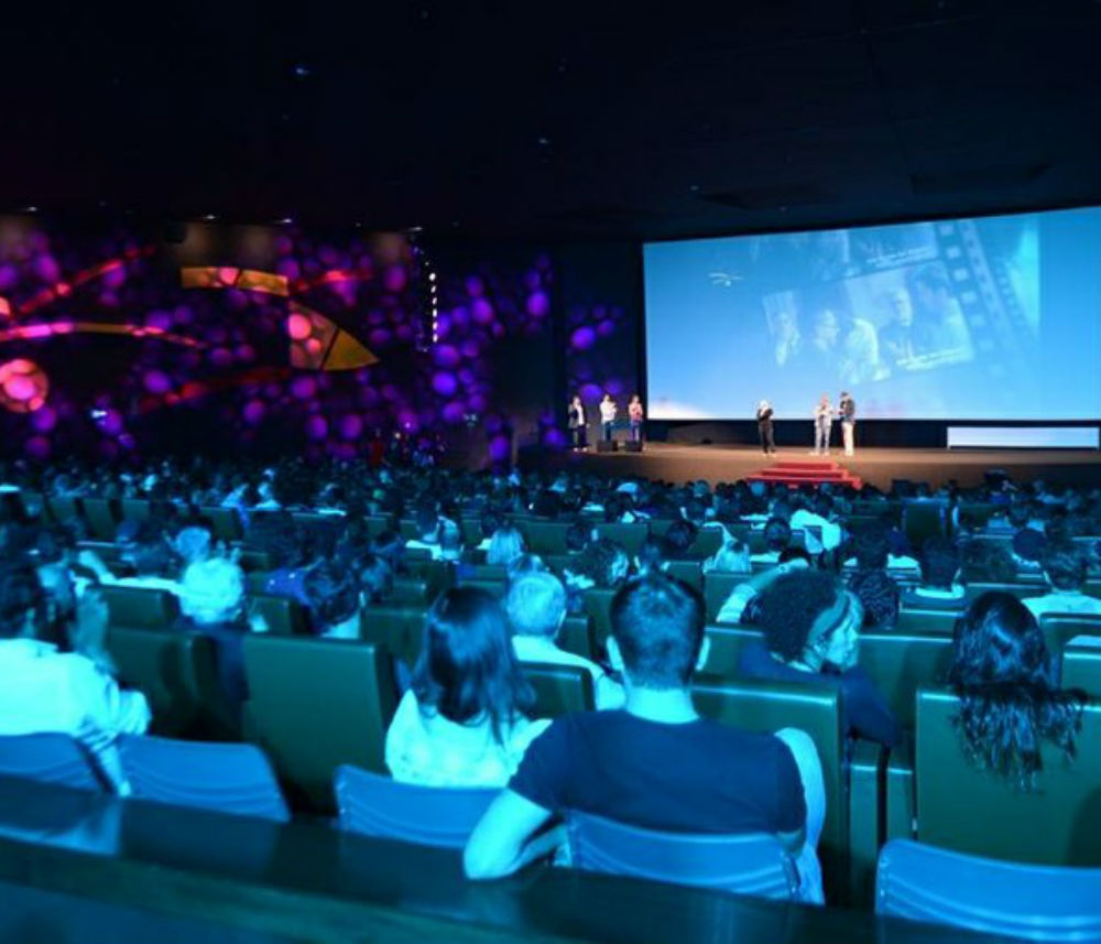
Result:
{"label": "dark auditorium ceiling above the screen and purple wall", "polygon": [[1097,0],[24,2],[0,35],[3,210],[603,239],[1101,203]]}

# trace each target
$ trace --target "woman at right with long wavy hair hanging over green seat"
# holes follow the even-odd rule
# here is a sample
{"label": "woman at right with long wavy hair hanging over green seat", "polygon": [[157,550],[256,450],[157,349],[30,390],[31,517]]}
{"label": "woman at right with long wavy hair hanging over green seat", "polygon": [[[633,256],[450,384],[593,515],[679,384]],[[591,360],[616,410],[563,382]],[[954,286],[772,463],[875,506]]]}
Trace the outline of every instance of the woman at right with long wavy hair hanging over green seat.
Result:
{"label": "woman at right with long wavy hair hanging over green seat", "polygon": [[1028,790],[1050,741],[1068,760],[1081,727],[1083,693],[1060,691],[1036,619],[1015,596],[986,593],[957,630],[948,683],[960,698],[955,719],[968,758],[981,770]]}

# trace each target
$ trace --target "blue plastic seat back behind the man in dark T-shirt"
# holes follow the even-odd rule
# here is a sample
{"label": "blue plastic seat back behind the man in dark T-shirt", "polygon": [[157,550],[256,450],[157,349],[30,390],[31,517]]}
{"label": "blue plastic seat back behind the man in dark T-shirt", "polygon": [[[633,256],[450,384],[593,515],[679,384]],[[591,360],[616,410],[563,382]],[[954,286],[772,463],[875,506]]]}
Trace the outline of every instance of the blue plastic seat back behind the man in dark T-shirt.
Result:
{"label": "blue plastic seat back behind the man in dark T-shirt", "polygon": [[567,827],[576,869],[759,898],[793,899],[798,889],[795,864],[775,836],[659,833],[578,812]]}

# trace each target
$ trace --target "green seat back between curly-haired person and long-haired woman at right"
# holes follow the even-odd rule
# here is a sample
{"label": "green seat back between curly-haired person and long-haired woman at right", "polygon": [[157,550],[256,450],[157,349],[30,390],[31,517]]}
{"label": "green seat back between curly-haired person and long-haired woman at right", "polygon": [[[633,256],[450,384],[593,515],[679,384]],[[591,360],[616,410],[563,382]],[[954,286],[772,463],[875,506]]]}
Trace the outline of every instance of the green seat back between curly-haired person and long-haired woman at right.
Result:
{"label": "green seat back between curly-haired person and long-haired woman at right", "polygon": [[886,698],[904,728],[913,729],[917,690],[939,685],[952,660],[950,636],[865,632],[860,637],[860,668]]}

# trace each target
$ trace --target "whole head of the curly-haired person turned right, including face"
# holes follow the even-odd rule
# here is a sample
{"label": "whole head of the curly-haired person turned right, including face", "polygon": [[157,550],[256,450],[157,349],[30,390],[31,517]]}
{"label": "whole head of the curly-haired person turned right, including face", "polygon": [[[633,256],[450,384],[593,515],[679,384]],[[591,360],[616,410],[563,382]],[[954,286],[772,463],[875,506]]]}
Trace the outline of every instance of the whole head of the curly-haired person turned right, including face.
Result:
{"label": "whole head of the curly-haired person turned right, including face", "polygon": [[833,574],[783,574],[761,594],[760,612],[765,645],[785,665],[813,673],[857,664],[863,606]]}

